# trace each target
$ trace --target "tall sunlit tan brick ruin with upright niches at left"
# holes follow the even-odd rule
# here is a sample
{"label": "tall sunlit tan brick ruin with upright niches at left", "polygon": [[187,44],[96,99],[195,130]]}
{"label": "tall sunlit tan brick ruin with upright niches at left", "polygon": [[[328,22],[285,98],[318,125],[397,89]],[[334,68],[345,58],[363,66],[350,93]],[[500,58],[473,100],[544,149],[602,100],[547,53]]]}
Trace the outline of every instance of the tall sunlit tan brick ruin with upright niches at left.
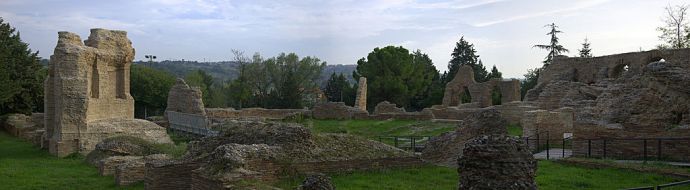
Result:
{"label": "tall sunlit tan brick ruin with upright niches at left", "polygon": [[129,94],[134,48],[126,32],[92,29],[84,42],[74,33],[58,36],[45,81],[45,125],[52,154],[87,153],[116,135],[171,142],[164,128],[134,119]]}

